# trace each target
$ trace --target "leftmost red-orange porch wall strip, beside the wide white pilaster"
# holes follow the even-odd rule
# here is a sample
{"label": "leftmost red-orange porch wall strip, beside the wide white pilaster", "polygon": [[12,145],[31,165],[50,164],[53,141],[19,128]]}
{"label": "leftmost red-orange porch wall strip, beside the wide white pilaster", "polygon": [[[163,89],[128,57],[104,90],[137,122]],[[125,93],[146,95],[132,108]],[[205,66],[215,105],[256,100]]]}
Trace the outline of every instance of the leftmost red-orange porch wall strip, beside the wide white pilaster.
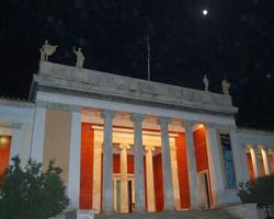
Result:
{"label": "leftmost red-orange porch wall strip, beside the wide white pilaster", "polygon": [[81,126],[80,209],[92,209],[94,131],[91,124]]}

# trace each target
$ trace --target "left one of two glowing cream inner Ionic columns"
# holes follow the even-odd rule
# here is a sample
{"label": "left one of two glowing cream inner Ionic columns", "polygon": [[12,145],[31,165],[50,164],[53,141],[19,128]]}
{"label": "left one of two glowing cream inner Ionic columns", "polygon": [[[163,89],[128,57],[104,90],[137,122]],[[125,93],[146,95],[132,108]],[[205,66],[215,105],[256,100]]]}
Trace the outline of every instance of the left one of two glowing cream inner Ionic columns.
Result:
{"label": "left one of two glowing cream inner Ionic columns", "polygon": [[128,212],[127,149],[129,148],[129,145],[119,145],[121,212]]}

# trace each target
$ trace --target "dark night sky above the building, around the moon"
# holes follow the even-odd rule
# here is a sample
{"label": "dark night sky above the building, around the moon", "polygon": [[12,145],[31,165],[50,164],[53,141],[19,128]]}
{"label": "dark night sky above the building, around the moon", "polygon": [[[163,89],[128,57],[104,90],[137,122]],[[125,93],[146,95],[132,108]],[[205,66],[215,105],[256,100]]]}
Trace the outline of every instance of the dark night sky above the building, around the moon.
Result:
{"label": "dark night sky above the building, around the moon", "polygon": [[[202,11],[208,10],[204,16]],[[146,35],[155,81],[214,92],[231,82],[237,124],[274,129],[273,0],[1,0],[0,95],[27,97],[38,48],[54,62],[146,77]]]}

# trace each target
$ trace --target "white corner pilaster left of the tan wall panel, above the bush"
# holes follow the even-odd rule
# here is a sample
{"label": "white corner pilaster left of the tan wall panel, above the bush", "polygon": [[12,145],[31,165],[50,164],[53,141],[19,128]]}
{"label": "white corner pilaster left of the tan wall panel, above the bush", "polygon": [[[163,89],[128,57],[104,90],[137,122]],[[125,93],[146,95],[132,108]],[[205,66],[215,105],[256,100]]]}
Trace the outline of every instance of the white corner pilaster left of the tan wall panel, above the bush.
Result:
{"label": "white corner pilaster left of the tan wall panel, above the bush", "polygon": [[46,107],[36,106],[33,125],[31,158],[43,162]]}

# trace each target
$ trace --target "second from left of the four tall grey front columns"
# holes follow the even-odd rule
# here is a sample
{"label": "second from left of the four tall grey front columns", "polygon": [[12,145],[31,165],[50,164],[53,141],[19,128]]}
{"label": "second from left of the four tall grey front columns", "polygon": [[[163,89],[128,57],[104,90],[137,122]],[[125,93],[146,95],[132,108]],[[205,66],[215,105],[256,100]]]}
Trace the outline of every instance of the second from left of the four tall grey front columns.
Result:
{"label": "second from left of the four tall grey front columns", "polygon": [[145,211],[145,180],[144,180],[144,147],[141,134],[141,115],[134,114],[134,174],[135,174],[135,210]]}

